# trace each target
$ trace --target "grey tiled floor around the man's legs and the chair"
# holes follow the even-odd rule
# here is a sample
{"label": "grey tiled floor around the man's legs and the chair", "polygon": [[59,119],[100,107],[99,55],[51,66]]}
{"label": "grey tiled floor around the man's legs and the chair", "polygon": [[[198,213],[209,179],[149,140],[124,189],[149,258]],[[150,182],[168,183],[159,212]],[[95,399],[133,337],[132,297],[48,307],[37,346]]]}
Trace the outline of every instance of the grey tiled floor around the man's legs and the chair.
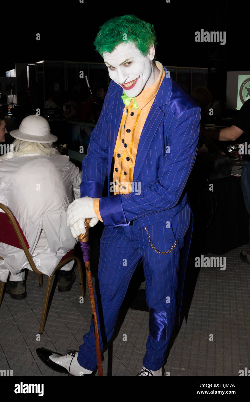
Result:
{"label": "grey tiled floor around the man's legs and the chair", "polygon": [[[250,266],[239,258],[239,252],[246,247],[223,255],[224,271],[200,269],[188,320],[184,319],[178,328],[165,364],[170,375],[238,376],[240,369],[250,367]],[[0,370],[11,369],[13,376],[63,376],[46,367],[35,350],[46,347],[66,353],[68,349],[78,349],[91,322],[88,291],[86,303],[80,304],[78,281],[70,292],[58,293],[56,287],[39,341],[46,277],[40,288],[37,275],[29,271],[26,286],[26,299],[13,300],[5,294],[2,301]],[[127,340],[123,340],[124,334]],[[104,375],[136,375],[141,369],[147,335],[148,313],[129,308],[112,347],[104,353]]]}

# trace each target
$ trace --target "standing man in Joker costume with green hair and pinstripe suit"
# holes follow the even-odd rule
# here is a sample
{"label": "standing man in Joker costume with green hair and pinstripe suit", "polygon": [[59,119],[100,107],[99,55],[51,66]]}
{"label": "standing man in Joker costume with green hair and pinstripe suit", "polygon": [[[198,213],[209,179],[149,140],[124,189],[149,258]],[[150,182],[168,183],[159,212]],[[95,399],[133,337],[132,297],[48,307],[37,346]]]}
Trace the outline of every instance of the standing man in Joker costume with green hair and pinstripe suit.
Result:
{"label": "standing man in Joker costume with green hair and pinstripe suit", "polygon": [[[67,213],[74,237],[85,233],[86,218],[90,226],[105,225],[95,283],[101,349],[142,258],[149,306],[142,376],[163,375],[175,318],[179,322],[193,225],[185,185],[200,129],[200,108],[154,59],[152,28],[133,15],[115,17],[95,39],[112,81],[83,160],[81,198]],[[106,175],[109,196],[102,197]],[[92,324],[83,340],[79,352],[37,353],[56,371],[95,375]]]}

